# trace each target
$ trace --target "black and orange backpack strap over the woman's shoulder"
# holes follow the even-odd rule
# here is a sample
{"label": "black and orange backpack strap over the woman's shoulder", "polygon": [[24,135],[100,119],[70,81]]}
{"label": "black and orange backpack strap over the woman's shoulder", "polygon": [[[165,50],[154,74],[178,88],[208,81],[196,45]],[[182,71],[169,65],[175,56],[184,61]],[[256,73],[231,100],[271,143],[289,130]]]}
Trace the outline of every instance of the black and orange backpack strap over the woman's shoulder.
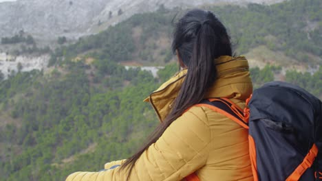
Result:
{"label": "black and orange backpack strap over the woman's shoulder", "polygon": [[210,108],[248,129],[248,121],[244,119],[244,111],[227,98],[204,99],[195,106]]}

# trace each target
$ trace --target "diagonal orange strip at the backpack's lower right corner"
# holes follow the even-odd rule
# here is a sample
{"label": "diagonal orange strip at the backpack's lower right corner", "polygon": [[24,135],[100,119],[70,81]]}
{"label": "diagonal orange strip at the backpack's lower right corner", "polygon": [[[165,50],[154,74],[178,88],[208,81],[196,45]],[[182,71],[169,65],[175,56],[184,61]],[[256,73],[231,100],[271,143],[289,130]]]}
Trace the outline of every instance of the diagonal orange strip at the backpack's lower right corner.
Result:
{"label": "diagonal orange strip at the backpack's lower right corner", "polygon": [[317,153],[319,152],[318,147],[316,147],[315,144],[313,144],[312,148],[310,149],[310,152],[305,156],[303,159],[303,162],[293,171],[293,173],[286,179],[286,181],[297,181],[303,173],[306,171],[306,169],[310,168],[314,162],[314,159],[316,158]]}

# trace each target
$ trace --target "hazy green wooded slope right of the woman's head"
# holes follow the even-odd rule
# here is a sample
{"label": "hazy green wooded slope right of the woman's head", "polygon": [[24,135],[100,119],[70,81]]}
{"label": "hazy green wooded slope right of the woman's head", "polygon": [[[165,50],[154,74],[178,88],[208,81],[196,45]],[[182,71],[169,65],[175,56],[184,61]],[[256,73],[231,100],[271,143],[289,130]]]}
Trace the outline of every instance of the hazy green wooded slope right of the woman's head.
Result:
{"label": "hazy green wooded slope right of the woman's head", "polygon": [[211,10],[227,22],[239,53],[266,45],[300,62],[310,62],[310,54],[322,55],[321,7],[319,0],[292,0],[273,5],[251,3],[247,8],[228,5]]}

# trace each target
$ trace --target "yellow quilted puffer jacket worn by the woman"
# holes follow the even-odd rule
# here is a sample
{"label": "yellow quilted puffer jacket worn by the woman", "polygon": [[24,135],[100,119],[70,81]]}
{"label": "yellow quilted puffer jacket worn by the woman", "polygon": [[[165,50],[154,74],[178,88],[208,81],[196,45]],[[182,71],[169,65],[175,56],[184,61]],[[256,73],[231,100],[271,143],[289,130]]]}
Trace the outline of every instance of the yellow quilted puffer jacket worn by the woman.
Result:
{"label": "yellow quilted puffer jacket worn by the woman", "polygon": [[[216,60],[217,81],[206,97],[228,97],[241,108],[253,90],[248,62],[244,57],[222,56]],[[160,121],[169,114],[186,71],[155,90],[150,101]],[[105,165],[122,164],[124,160]],[[173,121],[162,136],[138,159],[130,180],[184,180],[196,172],[201,181],[253,180],[248,155],[248,131],[209,108],[193,107]],[[126,180],[127,172],[110,169],[76,172],[67,181]]]}

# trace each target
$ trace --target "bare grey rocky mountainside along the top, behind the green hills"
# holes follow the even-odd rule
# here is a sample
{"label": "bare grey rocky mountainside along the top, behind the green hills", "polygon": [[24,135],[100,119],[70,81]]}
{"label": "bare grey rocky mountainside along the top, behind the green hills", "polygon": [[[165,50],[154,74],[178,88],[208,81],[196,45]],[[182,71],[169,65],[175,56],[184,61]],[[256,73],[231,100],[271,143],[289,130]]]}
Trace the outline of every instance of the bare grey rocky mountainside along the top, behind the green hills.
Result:
{"label": "bare grey rocky mountainside along the top, behind the green hills", "polygon": [[281,0],[18,0],[0,3],[0,38],[24,32],[41,39],[95,34],[133,14],[217,3],[275,3]]}

